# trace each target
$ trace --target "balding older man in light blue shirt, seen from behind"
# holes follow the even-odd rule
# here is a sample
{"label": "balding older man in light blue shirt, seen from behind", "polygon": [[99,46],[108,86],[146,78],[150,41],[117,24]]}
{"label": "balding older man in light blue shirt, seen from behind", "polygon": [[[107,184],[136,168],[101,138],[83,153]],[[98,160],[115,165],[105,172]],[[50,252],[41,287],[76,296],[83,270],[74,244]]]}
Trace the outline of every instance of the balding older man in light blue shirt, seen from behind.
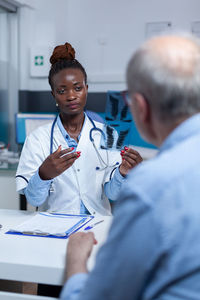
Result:
{"label": "balding older man in light blue shirt, seen from behind", "polygon": [[146,42],[127,68],[130,109],[159,154],[128,175],[93,271],[95,238],[71,236],[61,299],[200,299],[200,43]]}

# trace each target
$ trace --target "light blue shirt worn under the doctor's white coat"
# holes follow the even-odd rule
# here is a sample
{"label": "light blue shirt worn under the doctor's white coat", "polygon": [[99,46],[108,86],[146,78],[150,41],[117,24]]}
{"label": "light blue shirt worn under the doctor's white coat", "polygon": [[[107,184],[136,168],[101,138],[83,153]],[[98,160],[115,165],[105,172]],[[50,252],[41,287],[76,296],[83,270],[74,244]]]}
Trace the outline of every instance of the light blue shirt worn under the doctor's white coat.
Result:
{"label": "light blue shirt worn under the doctor's white coat", "polygon": [[[85,124],[85,121],[84,121],[84,124]],[[84,124],[83,124],[83,126],[84,126]],[[65,130],[64,126],[62,125],[62,122],[61,122],[61,119],[59,116],[57,118],[57,125],[58,125],[63,137],[66,139],[69,147],[74,147],[74,151],[76,151],[78,144],[74,139],[72,139],[69,136],[69,134]],[[78,136],[78,140],[80,139],[80,137],[81,137],[81,133]],[[109,182],[106,182],[104,185],[105,194],[109,199],[115,200],[117,198],[117,195],[121,188],[121,184],[124,180],[125,180],[125,178],[120,174],[119,169],[117,168],[113,174],[112,179]],[[24,194],[25,194],[28,202],[33,206],[40,206],[44,202],[44,199],[46,199],[48,196],[51,182],[52,182],[52,180],[42,180],[37,171],[31,177],[27,187],[24,189]],[[37,193],[35,193],[36,190],[37,190]],[[80,205],[80,213],[81,214],[89,213],[82,201],[81,201],[81,205]]]}

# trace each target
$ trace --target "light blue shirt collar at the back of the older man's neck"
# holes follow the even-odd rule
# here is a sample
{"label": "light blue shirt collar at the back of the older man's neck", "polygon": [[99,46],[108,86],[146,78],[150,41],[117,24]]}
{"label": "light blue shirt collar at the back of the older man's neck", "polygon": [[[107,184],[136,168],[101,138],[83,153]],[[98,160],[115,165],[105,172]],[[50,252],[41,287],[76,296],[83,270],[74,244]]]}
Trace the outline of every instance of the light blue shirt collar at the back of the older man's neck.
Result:
{"label": "light blue shirt collar at the back of the older man's neck", "polygon": [[198,133],[200,134],[200,113],[195,114],[177,126],[165,139],[159,152],[165,151],[175,144]]}

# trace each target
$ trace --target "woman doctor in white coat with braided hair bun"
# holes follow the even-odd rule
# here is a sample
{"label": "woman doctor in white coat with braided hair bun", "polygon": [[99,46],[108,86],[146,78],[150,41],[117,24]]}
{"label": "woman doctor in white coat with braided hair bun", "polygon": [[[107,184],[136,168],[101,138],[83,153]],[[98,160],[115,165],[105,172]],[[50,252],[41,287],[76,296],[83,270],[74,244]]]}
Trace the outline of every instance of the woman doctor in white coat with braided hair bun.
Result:
{"label": "woman doctor in white coat with braided hair bun", "polygon": [[40,210],[110,215],[126,174],[142,161],[137,151],[100,149],[104,124],[84,112],[88,85],[69,43],[55,47],[49,84],[60,114],[27,138],[21,153],[17,191]]}

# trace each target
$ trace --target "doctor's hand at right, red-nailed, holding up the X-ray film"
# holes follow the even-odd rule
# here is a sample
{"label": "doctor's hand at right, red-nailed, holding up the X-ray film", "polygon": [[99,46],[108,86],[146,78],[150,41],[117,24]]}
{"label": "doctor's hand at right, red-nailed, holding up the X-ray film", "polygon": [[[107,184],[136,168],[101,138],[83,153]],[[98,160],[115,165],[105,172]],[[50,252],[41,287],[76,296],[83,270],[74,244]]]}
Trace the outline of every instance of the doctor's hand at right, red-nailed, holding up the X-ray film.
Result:
{"label": "doctor's hand at right, red-nailed, holding up the X-ray film", "polygon": [[141,155],[134,149],[124,147],[124,150],[121,150],[122,163],[119,167],[119,171],[122,176],[126,176],[128,172],[142,162]]}

